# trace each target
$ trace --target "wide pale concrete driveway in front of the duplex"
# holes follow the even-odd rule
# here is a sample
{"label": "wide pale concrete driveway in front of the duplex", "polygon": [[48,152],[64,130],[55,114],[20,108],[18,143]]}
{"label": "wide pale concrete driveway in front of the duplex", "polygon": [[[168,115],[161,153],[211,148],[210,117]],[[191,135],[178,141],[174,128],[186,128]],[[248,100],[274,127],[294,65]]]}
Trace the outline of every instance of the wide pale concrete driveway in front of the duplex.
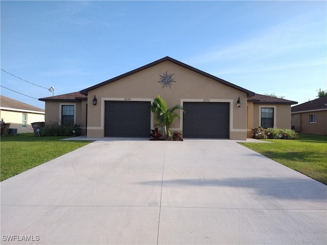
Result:
{"label": "wide pale concrete driveway in front of the duplex", "polygon": [[1,242],[326,244],[326,200],[232,140],[105,139],[3,181]]}

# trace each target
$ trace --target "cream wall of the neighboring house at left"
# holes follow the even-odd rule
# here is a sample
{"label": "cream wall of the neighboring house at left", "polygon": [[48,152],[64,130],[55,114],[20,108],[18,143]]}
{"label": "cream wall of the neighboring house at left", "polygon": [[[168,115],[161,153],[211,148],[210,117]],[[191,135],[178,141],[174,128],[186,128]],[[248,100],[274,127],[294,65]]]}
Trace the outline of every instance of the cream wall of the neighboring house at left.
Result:
{"label": "cream wall of the neighboring house at left", "polygon": [[[27,114],[26,128],[22,127],[22,114]],[[17,133],[32,133],[32,122],[44,121],[44,114],[32,113],[32,112],[19,112],[19,111],[7,111],[1,110],[1,118],[8,124],[10,129],[17,129]]]}

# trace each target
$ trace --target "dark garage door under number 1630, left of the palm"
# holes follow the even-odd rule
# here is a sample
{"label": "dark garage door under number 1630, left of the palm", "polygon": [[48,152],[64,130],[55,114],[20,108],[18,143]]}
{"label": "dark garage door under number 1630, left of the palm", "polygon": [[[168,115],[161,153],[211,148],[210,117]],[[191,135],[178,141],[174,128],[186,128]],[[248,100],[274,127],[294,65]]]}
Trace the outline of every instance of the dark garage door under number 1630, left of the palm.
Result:
{"label": "dark garage door under number 1630, left of the palm", "polygon": [[105,136],[149,137],[150,102],[106,101]]}

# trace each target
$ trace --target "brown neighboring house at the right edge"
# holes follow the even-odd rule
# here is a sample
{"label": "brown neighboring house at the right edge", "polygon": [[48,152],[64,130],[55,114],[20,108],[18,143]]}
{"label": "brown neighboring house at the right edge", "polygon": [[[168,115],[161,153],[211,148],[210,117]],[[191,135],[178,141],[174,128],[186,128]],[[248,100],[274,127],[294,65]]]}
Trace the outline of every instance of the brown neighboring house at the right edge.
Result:
{"label": "brown neighboring house at the right edge", "polygon": [[327,134],[327,96],[293,106],[292,126],[303,134]]}

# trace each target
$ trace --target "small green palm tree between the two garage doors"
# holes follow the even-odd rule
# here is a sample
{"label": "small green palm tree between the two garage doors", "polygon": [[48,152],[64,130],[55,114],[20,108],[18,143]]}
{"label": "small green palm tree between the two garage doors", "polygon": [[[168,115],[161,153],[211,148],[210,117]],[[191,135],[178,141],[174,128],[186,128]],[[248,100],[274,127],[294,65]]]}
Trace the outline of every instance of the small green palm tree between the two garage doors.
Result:
{"label": "small green palm tree between the two garage doors", "polygon": [[160,95],[154,99],[151,105],[151,111],[154,113],[157,122],[156,126],[159,126],[164,131],[164,136],[166,135],[167,138],[171,135],[169,129],[175,118],[180,119],[179,114],[175,113],[176,110],[184,112],[180,105],[169,108],[167,102]]}

